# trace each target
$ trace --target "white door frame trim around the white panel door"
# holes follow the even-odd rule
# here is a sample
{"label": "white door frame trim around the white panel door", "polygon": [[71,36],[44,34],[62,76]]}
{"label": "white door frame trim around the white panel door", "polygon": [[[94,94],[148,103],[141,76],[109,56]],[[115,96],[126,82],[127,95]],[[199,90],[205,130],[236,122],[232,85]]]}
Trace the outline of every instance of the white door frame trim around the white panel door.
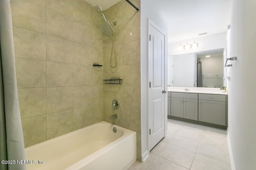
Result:
{"label": "white door frame trim around the white panel door", "polygon": [[[147,141],[147,149],[148,149],[148,152],[150,152],[149,148],[149,139],[150,139],[150,136],[149,136],[149,121],[150,121],[150,116],[149,116],[149,73],[150,73],[150,70],[148,68],[149,66],[149,37],[150,37],[150,34],[149,34],[149,27],[150,25],[152,25],[155,29],[157,29],[160,33],[162,33],[164,35],[164,90],[166,90],[166,92],[168,91],[168,79],[167,79],[167,72],[168,72],[168,55],[167,55],[167,33],[165,33],[156,23],[154,23],[153,21],[151,21],[149,18],[148,18],[148,24],[147,24],[147,35],[148,35],[148,39],[147,39],[147,71],[148,71],[148,74],[147,74],[147,98],[148,98],[148,101],[147,101],[147,117],[148,117],[148,120],[147,120],[147,137],[148,137],[148,141]],[[164,137],[166,137],[167,135],[167,107],[168,107],[168,92],[164,94]]]}

